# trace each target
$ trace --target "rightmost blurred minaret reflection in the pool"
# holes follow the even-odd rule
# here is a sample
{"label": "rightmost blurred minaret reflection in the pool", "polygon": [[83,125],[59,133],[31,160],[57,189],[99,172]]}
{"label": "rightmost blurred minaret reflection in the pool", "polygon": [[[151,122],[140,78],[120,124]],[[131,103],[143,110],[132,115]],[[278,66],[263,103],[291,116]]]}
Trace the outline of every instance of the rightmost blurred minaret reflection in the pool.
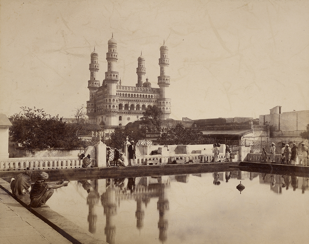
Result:
{"label": "rightmost blurred minaret reflection in the pool", "polygon": [[[158,180],[159,182],[159,180]],[[159,200],[157,202],[157,209],[159,210],[159,240],[165,241],[167,239],[167,225],[168,222],[164,219],[165,210],[169,210],[169,202],[165,198],[165,184],[161,185],[161,189],[159,192]]]}

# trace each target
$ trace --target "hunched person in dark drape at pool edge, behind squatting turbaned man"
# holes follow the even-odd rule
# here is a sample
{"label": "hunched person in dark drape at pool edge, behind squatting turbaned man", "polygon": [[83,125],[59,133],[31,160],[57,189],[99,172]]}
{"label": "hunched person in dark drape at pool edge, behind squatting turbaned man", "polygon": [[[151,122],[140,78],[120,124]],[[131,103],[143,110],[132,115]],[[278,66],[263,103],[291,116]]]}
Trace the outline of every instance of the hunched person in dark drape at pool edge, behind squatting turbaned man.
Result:
{"label": "hunched person in dark drape at pool edge, behind squatting turbaned man", "polygon": [[30,193],[32,171],[25,170],[23,173],[11,179],[11,190],[13,196]]}

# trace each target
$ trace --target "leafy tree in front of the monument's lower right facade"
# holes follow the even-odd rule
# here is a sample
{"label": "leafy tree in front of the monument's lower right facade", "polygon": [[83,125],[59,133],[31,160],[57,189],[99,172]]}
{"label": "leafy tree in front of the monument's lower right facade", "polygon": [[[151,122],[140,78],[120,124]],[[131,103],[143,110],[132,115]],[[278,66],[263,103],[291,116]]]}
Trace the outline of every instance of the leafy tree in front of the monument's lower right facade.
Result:
{"label": "leafy tree in front of the monument's lower right facade", "polygon": [[142,129],[145,130],[147,126],[148,131],[160,131],[161,115],[162,111],[159,109],[159,107],[155,105],[148,107],[145,112],[143,112],[143,117],[141,118],[144,124]]}

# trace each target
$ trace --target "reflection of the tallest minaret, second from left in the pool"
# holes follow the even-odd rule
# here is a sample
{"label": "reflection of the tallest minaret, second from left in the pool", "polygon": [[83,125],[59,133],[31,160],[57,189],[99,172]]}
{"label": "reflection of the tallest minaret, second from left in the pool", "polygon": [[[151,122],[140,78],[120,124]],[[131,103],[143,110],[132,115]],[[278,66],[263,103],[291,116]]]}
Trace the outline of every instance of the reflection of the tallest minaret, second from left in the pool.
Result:
{"label": "reflection of the tallest minaret, second from left in the pool", "polygon": [[106,188],[106,192],[104,192],[101,196],[101,202],[104,207],[104,214],[106,215],[106,242],[108,242],[109,244],[114,244],[116,231],[116,226],[114,224],[114,216],[117,214],[117,203],[116,189],[114,188],[113,184]]}

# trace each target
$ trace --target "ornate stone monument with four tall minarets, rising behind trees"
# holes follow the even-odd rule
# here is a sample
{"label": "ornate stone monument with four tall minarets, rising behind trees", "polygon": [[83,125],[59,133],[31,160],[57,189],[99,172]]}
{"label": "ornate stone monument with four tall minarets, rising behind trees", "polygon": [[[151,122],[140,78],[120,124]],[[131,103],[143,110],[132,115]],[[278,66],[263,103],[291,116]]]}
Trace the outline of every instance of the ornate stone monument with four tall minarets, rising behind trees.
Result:
{"label": "ornate stone monument with four tall minarets, rising behind trees", "polygon": [[170,85],[170,77],[165,72],[169,65],[169,58],[167,57],[168,48],[164,44],[163,42],[163,46],[160,47],[159,88],[151,87],[148,78],[146,82],[143,81],[146,68],[142,55],[138,57],[136,86],[121,85],[119,73],[116,71],[117,42],[113,37],[108,40],[108,52],[106,53],[108,69],[101,86],[100,81],[96,80],[96,73],[99,71],[99,56],[95,51],[91,53],[90,80],[88,81],[90,94],[89,101],[87,101],[87,116],[90,123],[110,128],[126,125],[138,120],[147,107],[154,105],[163,111],[161,119],[168,119],[171,113],[171,99],[165,97],[165,89]]}

